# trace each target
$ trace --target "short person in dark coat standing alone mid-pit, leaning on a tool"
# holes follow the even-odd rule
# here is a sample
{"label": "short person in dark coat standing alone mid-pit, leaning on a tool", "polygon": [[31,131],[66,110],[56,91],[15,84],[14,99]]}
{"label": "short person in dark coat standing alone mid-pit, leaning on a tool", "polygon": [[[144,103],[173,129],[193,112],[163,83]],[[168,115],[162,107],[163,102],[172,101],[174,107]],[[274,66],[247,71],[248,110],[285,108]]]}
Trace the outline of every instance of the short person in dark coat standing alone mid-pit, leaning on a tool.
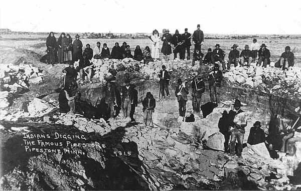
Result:
{"label": "short person in dark coat standing alone mid-pit, leaning on a tool", "polygon": [[150,93],[146,93],[146,97],[142,101],[143,106],[143,123],[146,126],[149,126],[153,122],[153,112],[155,111],[156,107],[156,100],[154,99],[154,96]]}

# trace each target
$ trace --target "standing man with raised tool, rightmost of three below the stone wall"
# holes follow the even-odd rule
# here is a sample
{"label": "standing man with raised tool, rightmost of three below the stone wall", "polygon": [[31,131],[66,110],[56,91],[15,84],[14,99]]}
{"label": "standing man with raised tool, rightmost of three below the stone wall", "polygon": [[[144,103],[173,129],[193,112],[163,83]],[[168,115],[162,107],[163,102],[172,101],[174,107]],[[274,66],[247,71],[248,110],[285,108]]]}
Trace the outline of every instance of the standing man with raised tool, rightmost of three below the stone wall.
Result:
{"label": "standing man with raised tool, rightmost of three below the stone wall", "polygon": [[219,70],[219,65],[214,64],[213,71],[209,73],[209,91],[210,91],[210,100],[212,103],[220,102],[220,87],[223,79],[223,74]]}

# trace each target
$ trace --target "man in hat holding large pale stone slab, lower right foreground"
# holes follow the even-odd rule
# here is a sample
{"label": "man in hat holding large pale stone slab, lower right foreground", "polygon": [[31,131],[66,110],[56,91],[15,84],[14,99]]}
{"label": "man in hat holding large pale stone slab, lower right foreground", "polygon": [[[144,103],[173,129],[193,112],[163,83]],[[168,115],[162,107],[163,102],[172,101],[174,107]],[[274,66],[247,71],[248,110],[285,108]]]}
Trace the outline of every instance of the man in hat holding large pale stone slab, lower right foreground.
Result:
{"label": "man in hat holding large pale stone slab, lower right foreground", "polygon": [[229,111],[229,121],[230,121],[230,155],[235,155],[235,142],[237,140],[237,156],[241,157],[242,152],[242,143],[245,133],[245,125],[238,125],[234,122],[234,118],[237,114],[244,112],[241,109],[242,104],[239,99],[236,99],[233,105],[233,109]]}

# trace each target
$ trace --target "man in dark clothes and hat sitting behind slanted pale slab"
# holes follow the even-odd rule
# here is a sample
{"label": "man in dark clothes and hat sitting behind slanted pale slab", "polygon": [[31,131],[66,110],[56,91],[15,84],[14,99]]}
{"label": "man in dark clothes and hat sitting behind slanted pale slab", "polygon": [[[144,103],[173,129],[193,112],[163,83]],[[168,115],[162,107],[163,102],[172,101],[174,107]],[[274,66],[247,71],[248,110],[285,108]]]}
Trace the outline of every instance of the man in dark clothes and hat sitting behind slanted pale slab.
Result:
{"label": "man in dark clothes and hat sitting behind slanted pale slab", "polygon": [[259,144],[261,142],[265,142],[265,134],[260,127],[261,127],[260,121],[256,121],[253,124],[253,127],[251,127],[250,129],[250,134],[247,143],[253,145],[253,144]]}

